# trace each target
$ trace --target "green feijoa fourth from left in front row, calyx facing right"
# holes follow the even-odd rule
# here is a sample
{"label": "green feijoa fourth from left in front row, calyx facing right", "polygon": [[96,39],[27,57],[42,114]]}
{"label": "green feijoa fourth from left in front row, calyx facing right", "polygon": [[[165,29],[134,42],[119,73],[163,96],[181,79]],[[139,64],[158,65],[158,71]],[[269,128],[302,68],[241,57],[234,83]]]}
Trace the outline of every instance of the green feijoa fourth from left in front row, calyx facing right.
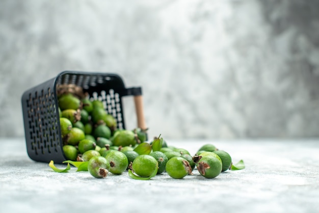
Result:
{"label": "green feijoa fourth from left in front row, calyx facing right", "polygon": [[193,174],[192,168],[187,159],[177,156],[168,160],[166,164],[166,172],[170,177],[175,179],[181,179],[188,174]]}

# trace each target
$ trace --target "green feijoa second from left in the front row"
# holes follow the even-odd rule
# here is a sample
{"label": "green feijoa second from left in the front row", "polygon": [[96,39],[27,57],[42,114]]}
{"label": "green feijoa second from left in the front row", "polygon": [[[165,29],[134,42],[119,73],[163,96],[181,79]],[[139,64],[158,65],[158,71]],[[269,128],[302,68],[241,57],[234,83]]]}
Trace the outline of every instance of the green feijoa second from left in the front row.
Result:
{"label": "green feijoa second from left in the front row", "polygon": [[114,150],[108,153],[105,158],[107,158],[107,160],[110,162],[109,171],[112,174],[122,174],[128,166],[127,157],[123,152]]}

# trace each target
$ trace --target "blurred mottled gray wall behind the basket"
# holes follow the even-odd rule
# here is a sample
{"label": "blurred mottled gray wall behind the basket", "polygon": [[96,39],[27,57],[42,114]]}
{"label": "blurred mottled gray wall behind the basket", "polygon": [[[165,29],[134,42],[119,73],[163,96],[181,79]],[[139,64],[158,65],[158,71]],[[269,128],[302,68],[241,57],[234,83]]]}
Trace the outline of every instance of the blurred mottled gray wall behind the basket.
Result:
{"label": "blurred mottled gray wall behind the basket", "polygon": [[318,137],[319,1],[0,0],[0,136],[63,70],[142,86],[151,136]]}

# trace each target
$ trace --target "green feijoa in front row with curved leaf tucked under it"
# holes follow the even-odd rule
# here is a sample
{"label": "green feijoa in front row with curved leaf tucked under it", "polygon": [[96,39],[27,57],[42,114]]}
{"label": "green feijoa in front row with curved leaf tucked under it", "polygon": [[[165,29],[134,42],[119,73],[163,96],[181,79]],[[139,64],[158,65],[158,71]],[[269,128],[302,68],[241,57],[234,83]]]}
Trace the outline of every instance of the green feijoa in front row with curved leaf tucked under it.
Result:
{"label": "green feijoa in front row with curved leaf tucked under it", "polygon": [[137,156],[132,163],[132,170],[141,177],[149,177],[157,173],[158,163],[154,157],[148,154]]}

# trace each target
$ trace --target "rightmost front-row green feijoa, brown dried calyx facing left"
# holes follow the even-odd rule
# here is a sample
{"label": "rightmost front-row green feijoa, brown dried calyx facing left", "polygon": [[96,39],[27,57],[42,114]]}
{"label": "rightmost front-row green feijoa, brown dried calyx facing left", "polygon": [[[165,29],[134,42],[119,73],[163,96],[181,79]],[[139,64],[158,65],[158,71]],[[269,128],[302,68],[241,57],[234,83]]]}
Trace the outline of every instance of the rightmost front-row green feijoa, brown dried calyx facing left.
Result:
{"label": "rightmost front-row green feijoa, brown dried calyx facing left", "polygon": [[196,162],[198,172],[205,178],[215,178],[222,171],[222,163],[217,157],[204,156]]}

